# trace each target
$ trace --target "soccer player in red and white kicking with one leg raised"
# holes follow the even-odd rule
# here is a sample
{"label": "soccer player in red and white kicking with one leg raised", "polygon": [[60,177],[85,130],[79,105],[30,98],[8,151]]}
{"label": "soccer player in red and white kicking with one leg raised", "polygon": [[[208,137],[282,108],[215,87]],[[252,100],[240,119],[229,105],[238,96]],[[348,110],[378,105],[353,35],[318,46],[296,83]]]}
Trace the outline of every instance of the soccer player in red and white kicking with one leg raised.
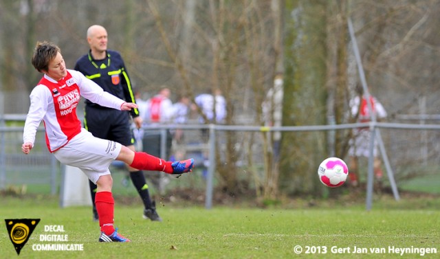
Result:
{"label": "soccer player in red and white kicking with one leg raised", "polygon": [[118,142],[94,137],[81,127],[76,115],[80,96],[101,106],[122,111],[137,108],[102,90],[95,82],[78,71],[66,69],[61,49],[48,42],[38,42],[32,55],[32,65],[43,73],[39,84],[30,93],[30,108],[23,129],[21,150],[29,154],[34,146],[36,129],[44,122],[47,148],[58,161],[80,168],[98,185],[95,205],[100,224],[100,242],[129,242],[113,226],[113,179],[109,166],[120,160],[139,170],[163,171],[179,177],[190,172],[194,159],[165,161],[147,153],[134,152]]}

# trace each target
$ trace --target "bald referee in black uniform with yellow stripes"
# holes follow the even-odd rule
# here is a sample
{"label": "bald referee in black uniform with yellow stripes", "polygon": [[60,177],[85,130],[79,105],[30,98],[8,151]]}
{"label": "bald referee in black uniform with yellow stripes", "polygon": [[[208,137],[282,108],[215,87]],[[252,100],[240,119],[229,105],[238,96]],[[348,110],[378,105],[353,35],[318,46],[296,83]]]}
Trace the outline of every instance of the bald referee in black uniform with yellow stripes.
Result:
{"label": "bald referee in black uniform with yellow stripes", "polygon": [[[91,25],[87,30],[89,53],[76,61],[75,70],[83,73],[87,78],[94,80],[104,91],[107,91],[122,100],[135,103],[129,75],[124,60],[118,52],[107,49],[107,30],[101,25]],[[109,109],[89,100],[85,100],[84,126],[95,137],[109,139],[135,150],[134,138],[130,129],[130,114],[133,122],[140,128],[142,117],[137,109],[130,112]],[[130,113],[130,114],[129,114]],[[131,181],[144,202],[144,218],[151,221],[162,221],[157,214],[155,201],[151,201],[144,172],[126,165],[130,172]],[[96,185],[89,181],[91,200],[93,204],[94,220],[98,220],[95,207]]]}

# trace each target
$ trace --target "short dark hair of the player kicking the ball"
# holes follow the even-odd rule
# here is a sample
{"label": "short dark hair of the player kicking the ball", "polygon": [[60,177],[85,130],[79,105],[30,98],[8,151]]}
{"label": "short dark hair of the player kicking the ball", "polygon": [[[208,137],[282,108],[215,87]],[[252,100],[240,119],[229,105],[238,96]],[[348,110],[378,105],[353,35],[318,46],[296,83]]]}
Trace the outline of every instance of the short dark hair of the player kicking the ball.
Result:
{"label": "short dark hair of the player kicking the ball", "polygon": [[39,72],[48,71],[50,61],[56,57],[58,52],[61,53],[61,49],[54,43],[38,41],[32,54],[32,65]]}

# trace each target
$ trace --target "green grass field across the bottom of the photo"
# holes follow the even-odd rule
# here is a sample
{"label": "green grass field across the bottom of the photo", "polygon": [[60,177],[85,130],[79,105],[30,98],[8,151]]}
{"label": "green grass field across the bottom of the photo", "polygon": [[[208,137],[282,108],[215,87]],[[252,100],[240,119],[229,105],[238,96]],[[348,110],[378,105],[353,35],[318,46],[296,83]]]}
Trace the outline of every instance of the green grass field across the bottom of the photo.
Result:
{"label": "green grass field across the bottom of the photo", "polygon": [[[285,210],[278,207],[214,207],[162,204],[162,223],[145,221],[139,205],[118,205],[115,225],[131,243],[98,243],[90,207],[58,207],[58,198],[2,196],[2,218],[41,218],[19,256],[8,231],[0,231],[0,258],[438,258],[438,199],[377,199],[364,204]],[[65,232],[44,232],[63,225]],[[66,242],[41,241],[41,234],[67,234]],[[83,251],[34,251],[41,244],[83,244]],[[296,254],[300,246],[303,251]],[[332,249],[333,247],[333,249]],[[337,251],[334,247],[338,247]],[[354,254],[354,249],[367,249]],[[400,256],[390,247],[408,248]],[[424,254],[428,249],[437,254]],[[384,249],[371,251],[370,249]],[[425,249],[425,250],[423,250]],[[360,251],[360,250],[358,250]],[[308,254],[307,254],[308,252]]]}

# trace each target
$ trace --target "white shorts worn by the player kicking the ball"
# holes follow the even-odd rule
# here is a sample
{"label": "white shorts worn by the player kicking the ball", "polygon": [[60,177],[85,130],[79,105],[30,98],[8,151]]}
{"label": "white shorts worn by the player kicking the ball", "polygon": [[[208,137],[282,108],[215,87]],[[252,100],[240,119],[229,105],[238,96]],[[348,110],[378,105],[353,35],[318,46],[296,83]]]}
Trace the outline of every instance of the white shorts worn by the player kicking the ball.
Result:
{"label": "white shorts worn by the player kicking the ball", "polygon": [[118,142],[94,137],[81,128],[81,133],[56,150],[54,155],[61,163],[80,168],[90,181],[96,183],[101,175],[110,174],[109,166],[121,148]]}

